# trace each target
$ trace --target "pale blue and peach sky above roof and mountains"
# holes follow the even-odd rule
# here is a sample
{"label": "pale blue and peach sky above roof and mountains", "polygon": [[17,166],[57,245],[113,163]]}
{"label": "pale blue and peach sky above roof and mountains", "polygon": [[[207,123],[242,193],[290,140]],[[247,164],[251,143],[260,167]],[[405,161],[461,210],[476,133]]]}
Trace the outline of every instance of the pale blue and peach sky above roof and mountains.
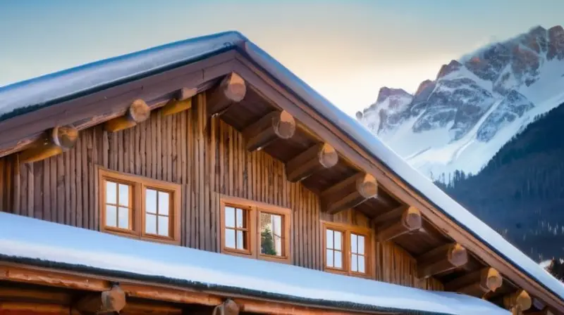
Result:
{"label": "pale blue and peach sky above roof and mountains", "polygon": [[564,0],[0,0],[0,86],[237,30],[353,115],[443,63],[535,25]]}

